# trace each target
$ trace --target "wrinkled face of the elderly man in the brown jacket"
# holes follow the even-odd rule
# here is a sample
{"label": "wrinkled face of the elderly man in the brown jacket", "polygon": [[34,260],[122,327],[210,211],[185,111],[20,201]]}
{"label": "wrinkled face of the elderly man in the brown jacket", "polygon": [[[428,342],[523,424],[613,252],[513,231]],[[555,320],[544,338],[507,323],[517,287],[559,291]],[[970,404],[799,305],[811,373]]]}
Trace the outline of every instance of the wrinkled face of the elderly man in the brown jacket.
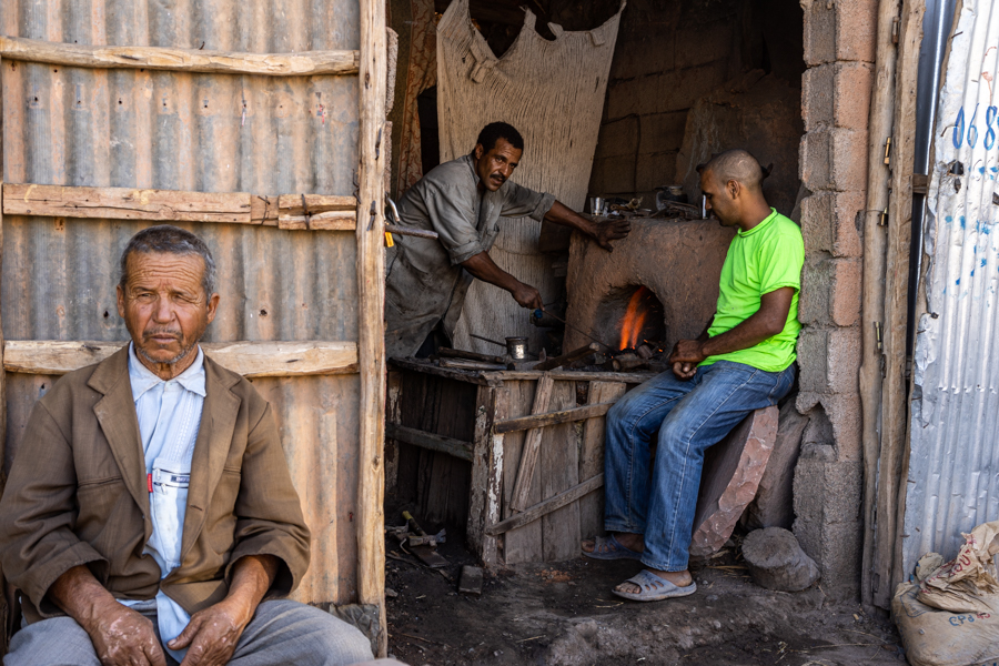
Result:
{"label": "wrinkled face of the elderly man in the brown jacket", "polygon": [[133,252],[128,266],[128,283],[118,287],[118,314],[142,364],[170,380],[198,356],[219,294],[204,293],[204,260],[196,254]]}

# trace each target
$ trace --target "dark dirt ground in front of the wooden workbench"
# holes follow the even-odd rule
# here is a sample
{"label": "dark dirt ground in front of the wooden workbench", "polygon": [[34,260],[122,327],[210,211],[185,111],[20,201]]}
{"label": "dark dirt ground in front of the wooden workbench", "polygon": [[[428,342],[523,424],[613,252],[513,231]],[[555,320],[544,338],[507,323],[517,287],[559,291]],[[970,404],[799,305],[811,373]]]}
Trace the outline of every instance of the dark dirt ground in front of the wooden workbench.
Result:
{"label": "dark dirt ground in front of the wooden workbench", "polygon": [[481,596],[458,593],[461,566],[475,564],[460,541],[438,548],[451,566],[435,571],[386,542],[389,652],[406,664],[905,664],[887,616],[831,603],[821,583],[800,593],[757,587],[737,548],[694,568],[696,594],[639,604],[610,594],[638,573],[629,561],[516,565],[487,573]]}

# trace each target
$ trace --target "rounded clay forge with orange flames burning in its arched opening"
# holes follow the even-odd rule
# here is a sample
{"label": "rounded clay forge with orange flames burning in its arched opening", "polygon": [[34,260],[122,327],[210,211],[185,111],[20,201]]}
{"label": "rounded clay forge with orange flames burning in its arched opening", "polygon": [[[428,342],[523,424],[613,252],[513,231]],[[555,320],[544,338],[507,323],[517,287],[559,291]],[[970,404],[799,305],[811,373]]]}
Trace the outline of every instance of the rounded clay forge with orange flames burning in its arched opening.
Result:
{"label": "rounded clay forge with orange flames burning in its arched opening", "polygon": [[[677,340],[697,337],[715,312],[733,235],[710,220],[653,218],[633,219],[613,252],[574,236],[566,321],[616,349],[648,341],[668,352]],[[588,342],[567,327],[563,349]]]}

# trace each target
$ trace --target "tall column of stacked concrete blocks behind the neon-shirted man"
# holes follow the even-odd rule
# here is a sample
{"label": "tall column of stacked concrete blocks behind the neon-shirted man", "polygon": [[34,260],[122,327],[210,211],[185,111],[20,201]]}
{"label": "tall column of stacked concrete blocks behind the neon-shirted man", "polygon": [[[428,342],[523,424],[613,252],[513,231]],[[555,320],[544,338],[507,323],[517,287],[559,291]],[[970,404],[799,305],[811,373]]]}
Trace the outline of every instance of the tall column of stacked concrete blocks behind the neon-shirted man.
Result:
{"label": "tall column of stacked concrete blocks behind the neon-shirted man", "polygon": [[861,215],[876,0],[801,0],[805,61],[799,170],[805,270],[797,406],[813,418],[795,474],[795,535],[837,596],[859,589]]}

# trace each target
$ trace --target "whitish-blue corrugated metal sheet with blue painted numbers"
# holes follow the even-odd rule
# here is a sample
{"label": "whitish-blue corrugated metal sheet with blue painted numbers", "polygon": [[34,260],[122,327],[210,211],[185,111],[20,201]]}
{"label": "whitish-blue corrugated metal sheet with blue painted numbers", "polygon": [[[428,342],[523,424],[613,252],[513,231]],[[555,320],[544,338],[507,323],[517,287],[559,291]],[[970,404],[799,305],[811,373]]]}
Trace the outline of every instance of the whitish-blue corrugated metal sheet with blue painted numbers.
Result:
{"label": "whitish-blue corrugated metal sheet with blue painted numbers", "polygon": [[999,6],[965,0],[937,112],[912,374],[904,571],[999,518]]}

